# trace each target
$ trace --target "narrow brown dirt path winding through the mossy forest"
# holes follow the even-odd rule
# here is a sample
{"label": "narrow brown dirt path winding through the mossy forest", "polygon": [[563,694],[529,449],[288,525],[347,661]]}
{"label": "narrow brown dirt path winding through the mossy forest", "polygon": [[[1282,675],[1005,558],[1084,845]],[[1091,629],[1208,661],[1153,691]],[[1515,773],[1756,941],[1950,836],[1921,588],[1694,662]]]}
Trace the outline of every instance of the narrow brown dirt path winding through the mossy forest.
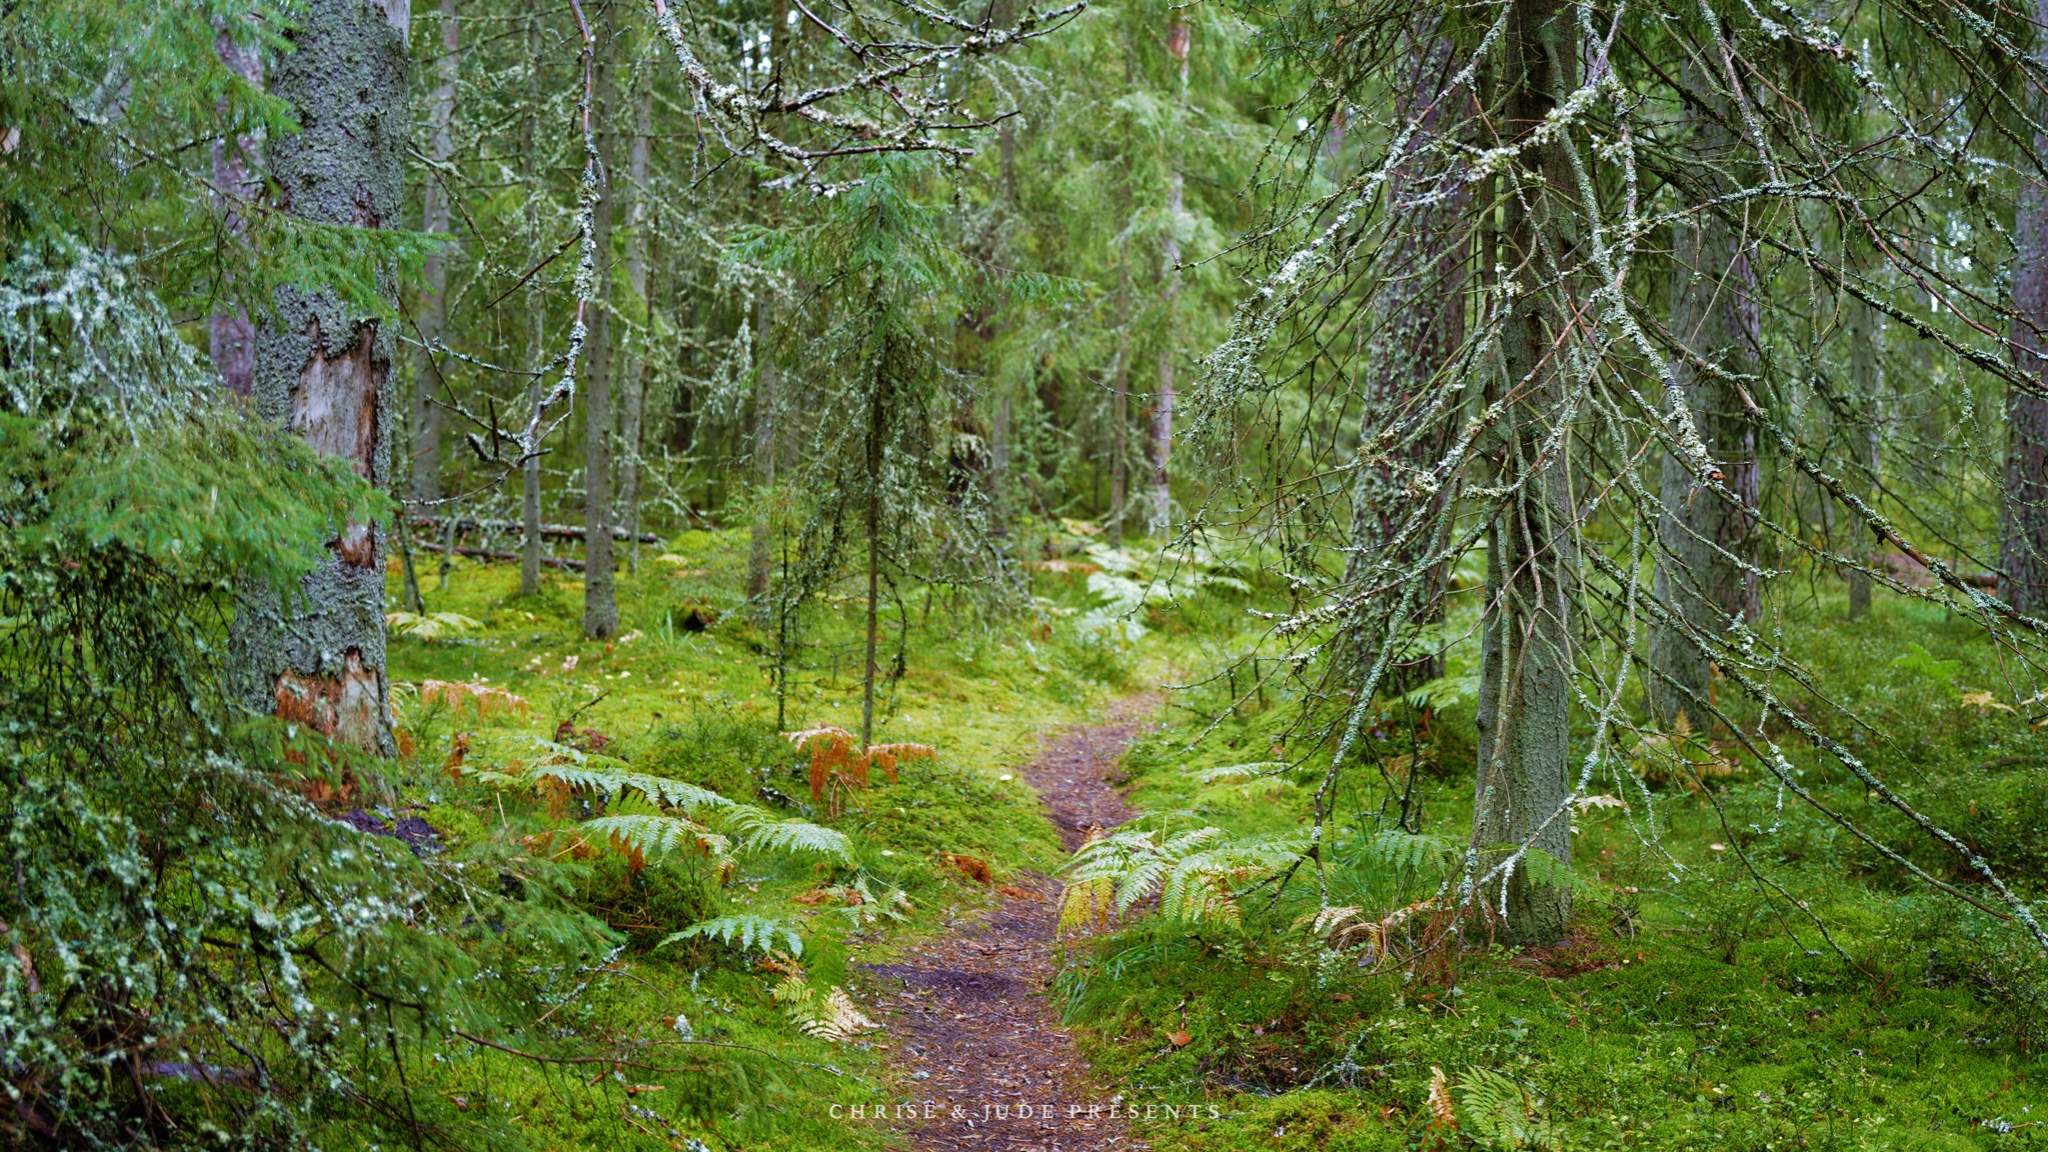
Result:
{"label": "narrow brown dirt path winding through the mossy forest", "polygon": [[[1018,773],[1071,853],[1090,828],[1133,816],[1112,783],[1151,724],[1157,697],[1128,697],[1100,724],[1051,734]],[[999,904],[948,924],[911,963],[864,965],[881,978],[899,1064],[915,1082],[911,1146],[928,1152],[1110,1152],[1145,1148],[1110,1117],[1112,1093],[1092,1076],[1047,1002],[1053,982],[1057,879],[1020,875]],[[1090,1115],[1090,1109],[1096,1109]]]}

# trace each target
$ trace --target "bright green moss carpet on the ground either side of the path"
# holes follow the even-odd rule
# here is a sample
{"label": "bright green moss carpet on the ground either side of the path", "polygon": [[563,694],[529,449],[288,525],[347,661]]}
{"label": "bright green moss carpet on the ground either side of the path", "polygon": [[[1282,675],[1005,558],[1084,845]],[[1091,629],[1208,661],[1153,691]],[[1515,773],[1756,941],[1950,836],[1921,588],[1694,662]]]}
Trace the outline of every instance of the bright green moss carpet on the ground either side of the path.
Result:
{"label": "bright green moss carpet on the ground either side of the path", "polygon": [[[717,533],[643,549],[639,572],[621,576],[625,627],[608,644],[582,640],[582,586],[567,574],[539,596],[514,594],[510,566],[457,562],[446,590],[426,574],[432,613],[477,623],[393,640],[408,754],[397,795],[367,818],[424,818],[440,851],[477,867],[559,857],[567,898],[616,941],[575,970],[528,974],[545,988],[530,1029],[631,1066],[451,1045],[420,1091],[489,1109],[549,1150],[2048,1148],[2038,953],[2009,922],[1909,883],[1839,824],[1782,801],[1739,758],[1704,791],[1597,783],[1628,808],[1581,816],[1577,927],[1550,947],[1470,937],[1413,970],[1333,951],[1300,927],[1321,888],[1331,904],[1386,910],[1436,883],[1425,861],[1372,863],[1368,797],[1384,789],[1341,793],[1325,873],[1247,896],[1235,922],[1163,922],[1141,906],[1055,947],[1049,877],[1075,830],[1112,820],[1100,791],[1055,795],[1051,812],[1038,793],[1057,785],[1061,734],[1104,724],[1116,701],[1159,699],[1112,777],[1141,822],[1260,834],[1298,828],[1311,810],[1315,773],[1210,771],[1286,752],[1284,685],[1233,705],[1239,685],[1208,683],[1239,644],[1241,594],[1153,613],[1120,650],[1069,635],[1057,613],[981,621],[944,594],[895,607],[889,637],[907,631],[905,662],[877,740],[930,744],[938,758],[877,775],[831,816],[811,804],[807,758],[782,732],[858,728],[858,599],[823,605],[778,701],[772,642],[741,611],[741,564],[743,541]],[[1044,605],[1090,603],[1075,576],[1034,582]],[[1837,701],[1845,715],[1821,724],[1864,740],[1862,754],[1911,779],[1937,818],[1974,816],[1976,847],[2040,892],[2048,742],[2005,711],[1958,703],[1991,683],[1991,654],[1917,605],[1880,603],[1855,625],[1839,615],[1823,599],[1782,621],[1860,685]],[[430,701],[426,681],[518,703]],[[1174,685],[1206,687],[1161,695]],[[616,853],[567,851],[551,832],[588,816],[575,799],[565,812],[483,779],[535,758],[563,722],[569,740],[637,773],[829,824],[852,838],[852,859],[743,853],[721,875],[692,855],[633,869]],[[1376,771],[1399,785],[1391,795],[1450,842],[1470,818],[1468,724],[1468,703],[1446,693],[1425,715],[1391,709],[1370,734]],[[1817,797],[1911,842],[1862,785],[1798,767]],[[1929,847],[1911,855],[1962,881]],[[778,920],[801,955],[662,943],[721,916]],[[797,970],[819,998],[840,990],[883,1027],[811,1035],[774,996]],[[1055,1025],[1073,1050],[1047,1047]],[[981,1115],[1038,1103],[1034,1082],[1114,1105],[1116,1119],[1001,1144],[897,1107],[969,1093],[989,1097],[958,1101]]]}

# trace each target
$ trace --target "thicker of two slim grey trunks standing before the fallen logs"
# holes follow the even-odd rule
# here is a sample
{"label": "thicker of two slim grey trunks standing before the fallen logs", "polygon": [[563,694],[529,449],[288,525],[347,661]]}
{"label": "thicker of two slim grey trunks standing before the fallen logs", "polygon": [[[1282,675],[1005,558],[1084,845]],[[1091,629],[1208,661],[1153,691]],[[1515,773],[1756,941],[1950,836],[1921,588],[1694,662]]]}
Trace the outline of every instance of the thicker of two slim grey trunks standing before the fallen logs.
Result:
{"label": "thicker of two slim grey trunks standing before the fallen logs", "polygon": [[610,640],[618,631],[618,590],[612,576],[612,205],[610,113],[618,33],[610,10],[596,18],[596,107],[598,166],[604,191],[592,215],[598,246],[596,299],[590,301],[590,383],[584,402],[584,635]]}

